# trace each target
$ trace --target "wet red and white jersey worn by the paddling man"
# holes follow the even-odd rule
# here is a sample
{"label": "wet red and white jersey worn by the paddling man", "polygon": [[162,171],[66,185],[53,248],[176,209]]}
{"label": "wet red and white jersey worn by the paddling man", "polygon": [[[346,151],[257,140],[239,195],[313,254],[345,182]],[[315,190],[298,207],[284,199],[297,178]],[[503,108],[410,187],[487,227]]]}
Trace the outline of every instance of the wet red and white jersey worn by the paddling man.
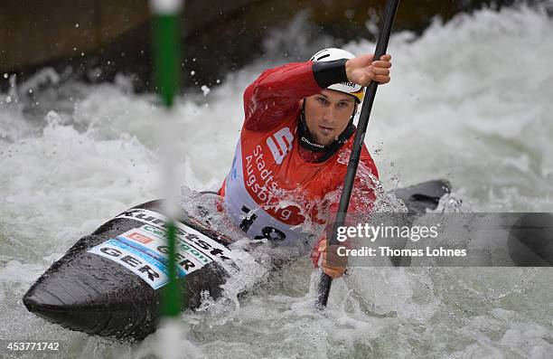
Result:
{"label": "wet red and white jersey worn by the paddling man", "polygon": [[[337,210],[339,196],[325,195],[342,190],[353,136],[322,163],[301,156],[299,100],[322,90],[311,68],[312,62],[301,62],[264,71],[244,93],[246,119],[219,194],[231,220],[251,239],[305,241],[313,234],[306,221],[323,224]],[[371,178],[378,173],[363,146],[349,213],[370,211]]]}

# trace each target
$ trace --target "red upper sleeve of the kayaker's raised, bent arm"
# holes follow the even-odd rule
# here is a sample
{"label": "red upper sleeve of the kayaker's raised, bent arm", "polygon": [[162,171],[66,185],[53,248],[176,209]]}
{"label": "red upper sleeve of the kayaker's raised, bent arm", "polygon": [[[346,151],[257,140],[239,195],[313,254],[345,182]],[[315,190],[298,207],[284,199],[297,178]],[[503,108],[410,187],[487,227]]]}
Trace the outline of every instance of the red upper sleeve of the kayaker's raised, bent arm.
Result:
{"label": "red upper sleeve of the kayaker's raised, bent arm", "polygon": [[244,127],[267,130],[294,115],[299,100],[318,93],[311,61],[292,62],[263,71],[244,91]]}

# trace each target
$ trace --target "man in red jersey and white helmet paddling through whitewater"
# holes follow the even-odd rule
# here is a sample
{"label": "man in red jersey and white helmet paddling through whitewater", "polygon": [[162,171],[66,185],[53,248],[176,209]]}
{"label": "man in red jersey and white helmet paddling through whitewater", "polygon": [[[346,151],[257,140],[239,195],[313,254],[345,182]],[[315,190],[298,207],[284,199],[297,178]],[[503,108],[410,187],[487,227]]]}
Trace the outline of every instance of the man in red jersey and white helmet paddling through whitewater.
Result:
{"label": "man in red jersey and white helmet paddling through whitewater", "polygon": [[[372,54],[324,49],[310,61],[263,71],[245,90],[244,125],[219,194],[248,238],[308,242],[306,224],[333,221],[363,87],[390,80],[391,57],[372,60]],[[370,212],[377,179],[363,145],[348,213]],[[325,233],[312,253],[315,265],[321,253],[324,272],[342,276],[347,260],[326,248]]]}

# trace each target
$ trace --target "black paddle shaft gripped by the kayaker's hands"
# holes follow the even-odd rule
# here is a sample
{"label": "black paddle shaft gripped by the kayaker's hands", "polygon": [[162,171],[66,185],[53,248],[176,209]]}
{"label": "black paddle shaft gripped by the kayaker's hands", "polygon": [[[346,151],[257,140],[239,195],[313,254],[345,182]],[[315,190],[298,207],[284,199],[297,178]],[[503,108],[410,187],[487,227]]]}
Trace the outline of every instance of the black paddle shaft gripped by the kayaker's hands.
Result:
{"label": "black paddle shaft gripped by the kayaker's hands", "polygon": [[[389,35],[391,33],[392,25],[394,24],[394,18],[396,17],[396,11],[398,10],[399,0],[388,0],[386,2],[386,9],[384,10],[384,21],[380,26],[379,38],[377,40],[377,47],[374,52],[373,61],[380,60],[380,57],[386,54],[388,48]],[[333,235],[328,245],[338,244],[336,233],[338,227],[343,226],[345,223],[346,214],[348,211],[348,205],[350,204],[351,190],[353,189],[353,182],[355,180],[355,174],[357,173],[357,165],[359,165],[359,159],[361,157],[361,148],[363,146],[363,139],[367,132],[367,125],[369,124],[370,110],[372,109],[372,103],[376,96],[376,90],[378,89],[378,82],[370,81],[367,87],[367,93],[361,107],[361,115],[359,118],[359,124],[357,125],[357,131],[353,140],[353,147],[351,148],[350,162],[348,163],[348,170],[343,182],[342,195],[340,196],[340,205],[338,207],[338,213],[336,213],[336,220],[333,225]],[[328,301],[328,295],[333,283],[332,277],[322,274],[319,280],[318,293],[317,293],[317,306],[326,307]]]}

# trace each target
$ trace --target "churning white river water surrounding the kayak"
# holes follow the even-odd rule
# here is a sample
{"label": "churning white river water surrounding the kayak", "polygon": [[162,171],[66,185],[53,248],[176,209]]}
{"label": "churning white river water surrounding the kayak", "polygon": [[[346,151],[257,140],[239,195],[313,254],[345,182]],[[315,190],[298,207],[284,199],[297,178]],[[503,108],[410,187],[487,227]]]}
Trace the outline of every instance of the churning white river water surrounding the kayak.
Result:
{"label": "churning white river water surrounding the kayak", "polygon": [[[260,71],[293,49],[308,57],[332,45],[305,43],[302,31],[296,23],[268,39],[272,61],[177,100],[183,185],[220,185],[243,120],[242,91]],[[553,212],[552,33],[546,10],[524,6],[436,20],[419,37],[395,33],[392,81],[379,89],[365,140],[384,187],[447,178],[450,200],[464,211]],[[345,48],[372,52],[374,43]],[[155,133],[164,115],[155,96],[134,94],[124,76],[86,85],[57,83],[60,75],[44,69],[0,94],[0,338],[59,340],[71,357],[159,357],[164,331],[129,345],[71,332],[23,307],[24,292],[72,243],[163,194]],[[260,279],[252,295],[183,315],[180,353],[553,356],[549,268],[354,269],[347,283],[334,282],[324,315],[312,308],[313,273],[307,259],[268,279],[252,264],[240,279]]]}

